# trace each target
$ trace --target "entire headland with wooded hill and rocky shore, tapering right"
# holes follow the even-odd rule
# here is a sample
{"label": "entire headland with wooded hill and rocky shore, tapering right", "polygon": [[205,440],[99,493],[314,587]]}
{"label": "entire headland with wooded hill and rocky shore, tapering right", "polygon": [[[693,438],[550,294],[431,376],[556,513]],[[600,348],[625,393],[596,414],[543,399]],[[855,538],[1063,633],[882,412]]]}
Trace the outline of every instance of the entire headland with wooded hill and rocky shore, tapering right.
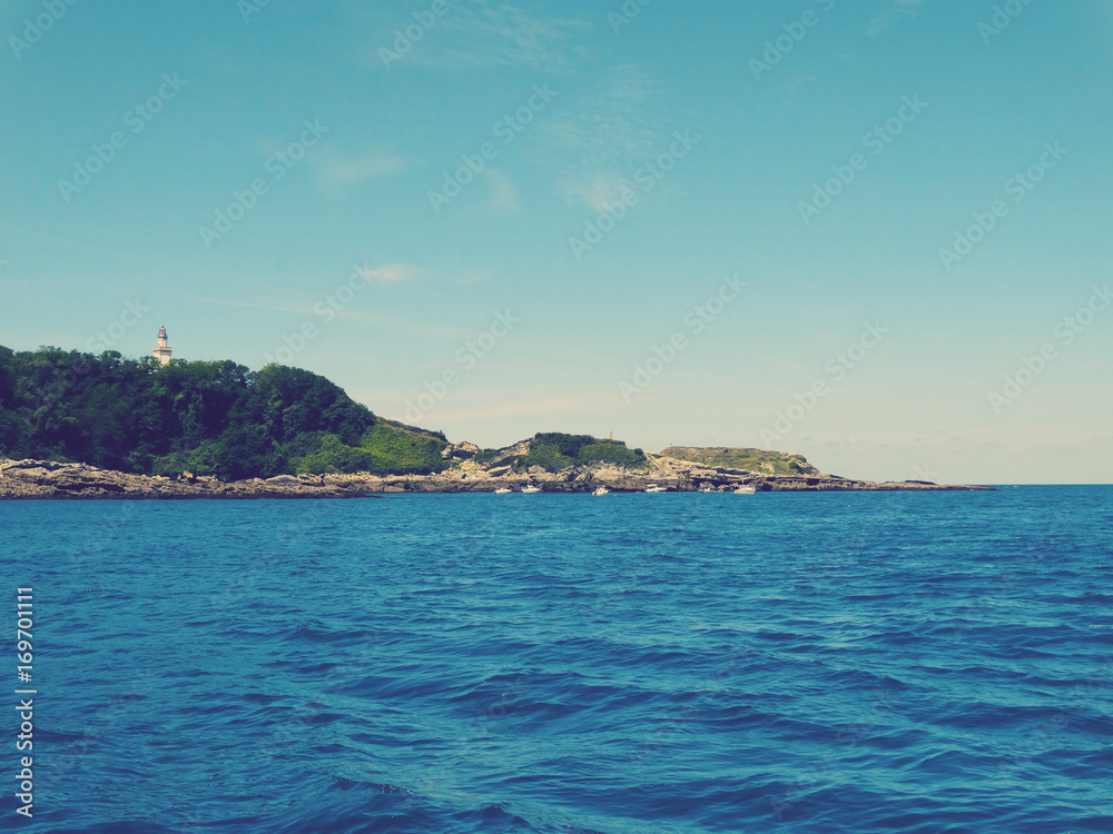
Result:
{"label": "entire headland with wooded hill and rocky shore, tapering right", "polygon": [[377,417],[323,376],[230,360],[0,347],[0,497],[345,497],[391,492],[956,489],[820,473],[799,456],[542,433],[500,449]]}

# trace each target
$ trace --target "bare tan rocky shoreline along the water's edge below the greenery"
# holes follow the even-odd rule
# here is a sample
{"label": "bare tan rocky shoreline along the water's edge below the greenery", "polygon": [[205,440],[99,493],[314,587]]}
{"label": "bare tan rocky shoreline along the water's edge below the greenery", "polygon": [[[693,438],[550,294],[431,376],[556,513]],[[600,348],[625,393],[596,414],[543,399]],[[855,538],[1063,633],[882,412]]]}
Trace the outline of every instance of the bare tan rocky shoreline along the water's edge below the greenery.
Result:
{"label": "bare tan rocky shoreline along the water's edge below the greenery", "polygon": [[615,493],[644,492],[654,484],[669,492],[728,490],[743,485],[759,493],[989,488],[918,480],[874,483],[824,475],[810,467],[800,475],[772,475],[661,456],[649,456],[649,460],[650,467],[646,470],[602,465],[552,474],[540,467],[513,473],[510,466],[499,465],[499,461],[484,466],[471,459],[455,459],[452,469],[437,475],[279,475],[266,480],[226,483],[211,477],[130,475],[87,464],[0,459],[0,499],[357,498],[398,493],[493,493],[500,488],[520,492],[530,485],[545,493],[590,493],[600,486]]}

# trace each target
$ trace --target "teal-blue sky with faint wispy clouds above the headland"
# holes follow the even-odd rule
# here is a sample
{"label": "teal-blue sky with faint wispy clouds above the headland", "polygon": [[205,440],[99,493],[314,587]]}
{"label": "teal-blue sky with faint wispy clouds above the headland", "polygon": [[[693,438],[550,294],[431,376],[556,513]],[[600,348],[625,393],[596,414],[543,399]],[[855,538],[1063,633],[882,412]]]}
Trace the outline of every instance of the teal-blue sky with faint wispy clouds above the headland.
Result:
{"label": "teal-blue sky with faint wispy clouds above the headland", "polygon": [[1109,483],[1113,1],[0,2],[0,345]]}

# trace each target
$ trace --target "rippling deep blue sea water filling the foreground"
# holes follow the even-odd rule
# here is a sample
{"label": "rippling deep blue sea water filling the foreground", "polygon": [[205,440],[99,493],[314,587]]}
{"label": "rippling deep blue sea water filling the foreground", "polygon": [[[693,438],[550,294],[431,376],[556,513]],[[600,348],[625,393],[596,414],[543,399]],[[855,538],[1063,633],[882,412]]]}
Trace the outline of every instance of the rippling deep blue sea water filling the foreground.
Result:
{"label": "rippling deep blue sea water filling the foreground", "polygon": [[16,502],[0,526],[3,830],[1113,831],[1113,487]]}

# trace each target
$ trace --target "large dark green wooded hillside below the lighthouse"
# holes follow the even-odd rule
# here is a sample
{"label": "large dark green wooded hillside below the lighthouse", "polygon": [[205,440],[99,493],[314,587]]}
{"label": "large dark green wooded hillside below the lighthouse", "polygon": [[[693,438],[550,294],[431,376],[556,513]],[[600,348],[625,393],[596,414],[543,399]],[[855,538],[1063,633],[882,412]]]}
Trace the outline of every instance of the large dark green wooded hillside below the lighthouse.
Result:
{"label": "large dark green wooded hillside below the lighthouse", "polygon": [[299,368],[0,348],[0,456],[223,479],[446,468],[444,435],[375,417]]}

